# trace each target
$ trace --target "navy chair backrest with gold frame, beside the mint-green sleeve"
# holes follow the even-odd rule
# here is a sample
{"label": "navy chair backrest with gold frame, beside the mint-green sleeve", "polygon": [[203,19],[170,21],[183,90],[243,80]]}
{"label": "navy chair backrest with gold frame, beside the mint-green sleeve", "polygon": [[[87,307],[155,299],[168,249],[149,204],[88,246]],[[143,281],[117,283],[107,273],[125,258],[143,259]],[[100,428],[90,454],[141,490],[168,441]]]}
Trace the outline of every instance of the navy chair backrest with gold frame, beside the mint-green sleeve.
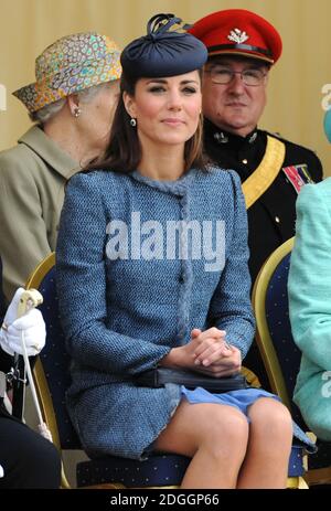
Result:
{"label": "navy chair backrest with gold frame, beside the mint-green sleeve", "polygon": [[299,408],[292,402],[301,352],[295,344],[288,312],[287,281],[293,238],[284,243],[267,259],[256,278],[253,307],[256,316],[257,343],[271,388],[307,429]]}

